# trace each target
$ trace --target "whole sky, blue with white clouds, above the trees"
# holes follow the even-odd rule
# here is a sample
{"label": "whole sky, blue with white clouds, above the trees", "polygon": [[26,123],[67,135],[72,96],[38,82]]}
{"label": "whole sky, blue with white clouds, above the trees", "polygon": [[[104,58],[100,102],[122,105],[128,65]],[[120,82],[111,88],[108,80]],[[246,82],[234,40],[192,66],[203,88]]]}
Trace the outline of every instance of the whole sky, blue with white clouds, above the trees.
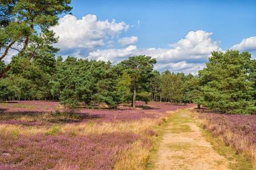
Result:
{"label": "whole sky, blue with white clouds, above the trees", "polygon": [[255,56],[256,1],[73,0],[71,6],[72,15],[61,15],[53,28],[64,56],[116,63],[146,54],[159,61],[155,69],[194,74],[212,50]]}

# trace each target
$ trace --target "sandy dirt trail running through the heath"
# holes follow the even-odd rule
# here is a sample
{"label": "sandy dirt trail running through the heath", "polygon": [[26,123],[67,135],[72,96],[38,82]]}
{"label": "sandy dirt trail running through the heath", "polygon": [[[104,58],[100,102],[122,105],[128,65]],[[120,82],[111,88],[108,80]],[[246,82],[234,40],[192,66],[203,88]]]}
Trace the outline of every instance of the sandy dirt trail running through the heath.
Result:
{"label": "sandy dirt trail running through the heath", "polygon": [[205,141],[187,109],[174,114],[165,129],[155,169],[229,169],[228,165]]}

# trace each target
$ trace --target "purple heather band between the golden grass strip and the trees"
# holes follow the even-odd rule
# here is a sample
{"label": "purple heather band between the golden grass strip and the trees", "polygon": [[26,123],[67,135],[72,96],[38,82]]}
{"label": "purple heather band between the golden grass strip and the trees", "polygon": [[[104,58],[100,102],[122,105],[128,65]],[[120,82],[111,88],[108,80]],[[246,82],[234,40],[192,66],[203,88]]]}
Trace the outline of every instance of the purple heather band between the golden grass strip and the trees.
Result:
{"label": "purple heather band between the golden grass strip and the trees", "polygon": [[[137,109],[121,105],[118,109],[86,109],[81,108],[77,117],[60,116],[52,117],[56,110],[64,112],[58,102],[51,101],[12,101],[11,103],[0,103],[0,124],[22,124],[22,125],[49,125],[62,122],[84,122],[84,121],[129,121],[141,120],[143,118],[159,118],[167,112],[178,108],[188,108],[193,105],[154,103],[137,101]],[[26,119],[24,118],[26,116]]]}

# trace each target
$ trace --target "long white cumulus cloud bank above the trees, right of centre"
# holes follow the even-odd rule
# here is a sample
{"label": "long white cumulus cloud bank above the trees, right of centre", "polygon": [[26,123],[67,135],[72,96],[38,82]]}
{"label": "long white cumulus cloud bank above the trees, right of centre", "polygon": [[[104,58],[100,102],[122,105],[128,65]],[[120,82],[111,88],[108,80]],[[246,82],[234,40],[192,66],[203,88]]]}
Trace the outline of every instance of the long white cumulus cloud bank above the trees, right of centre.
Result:
{"label": "long white cumulus cloud bank above the trees, right of centre", "polygon": [[205,66],[202,60],[206,60],[212,51],[221,50],[217,41],[212,41],[211,35],[211,32],[191,31],[187,33],[184,39],[172,44],[170,49],[143,49],[130,45],[121,49],[96,50],[90,52],[88,58],[109,60],[116,63],[129,56],[143,54],[157,59],[158,63],[155,66],[157,70],[170,69],[175,72],[183,71],[184,73],[196,74]]}

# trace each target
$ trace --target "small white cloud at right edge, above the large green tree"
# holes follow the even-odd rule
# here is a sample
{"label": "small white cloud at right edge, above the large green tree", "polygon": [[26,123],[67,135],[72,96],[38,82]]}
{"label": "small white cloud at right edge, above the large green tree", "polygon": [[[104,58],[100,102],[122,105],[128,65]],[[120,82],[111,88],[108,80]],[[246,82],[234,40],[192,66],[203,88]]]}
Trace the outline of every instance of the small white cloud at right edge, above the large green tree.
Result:
{"label": "small white cloud at right edge, above the large green tree", "polygon": [[249,51],[256,50],[256,36],[243,39],[239,44],[232,46],[231,49],[249,50]]}

